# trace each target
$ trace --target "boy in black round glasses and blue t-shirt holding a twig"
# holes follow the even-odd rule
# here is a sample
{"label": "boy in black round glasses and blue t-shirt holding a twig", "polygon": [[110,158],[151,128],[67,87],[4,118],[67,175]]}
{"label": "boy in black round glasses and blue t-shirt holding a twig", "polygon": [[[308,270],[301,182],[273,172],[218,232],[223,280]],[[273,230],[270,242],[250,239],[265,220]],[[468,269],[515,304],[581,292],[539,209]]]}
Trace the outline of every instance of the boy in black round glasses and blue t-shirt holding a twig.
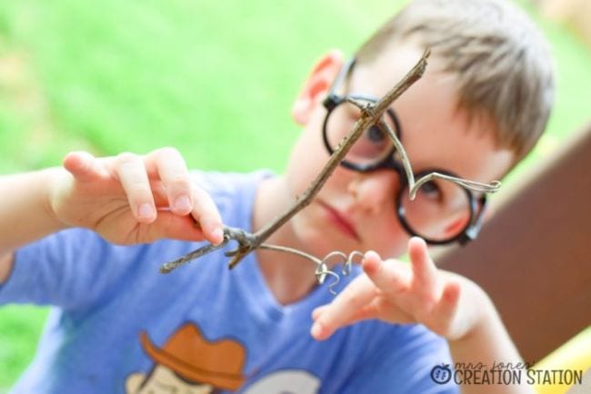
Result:
{"label": "boy in black round glasses and blue t-shirt holding a twig", "polygon": [[[385,94],[425,46],[426,74],[386,122],[416,172],[501,177],[543,131],[553,83],[544,40],[496,0],[417,1],[355,62],[326,54],[295,100],[303,132],[283,176],[188,172],[165,148],[70,153],[64,168],[4,177],[0,302],[57,307],[15,392],[456,392],[430,376],[436,366],[518,360],[486,294],[437,271],[425,242],[410,238],[469,236],[484,199],[429,182],[409,202],[397,155],[374,128],[268,240],[320,257],[367,251],[365,272],[343,279],[336,299],[316,288],[312,263],[276,251],[257,250],[234,271],[212,253],[169,276],[156,272],[195,241],[222,241],[222,223],[256,231],[283,212],[355,122],[342,97]],[[377,254],[406,245],[410,266]]]}

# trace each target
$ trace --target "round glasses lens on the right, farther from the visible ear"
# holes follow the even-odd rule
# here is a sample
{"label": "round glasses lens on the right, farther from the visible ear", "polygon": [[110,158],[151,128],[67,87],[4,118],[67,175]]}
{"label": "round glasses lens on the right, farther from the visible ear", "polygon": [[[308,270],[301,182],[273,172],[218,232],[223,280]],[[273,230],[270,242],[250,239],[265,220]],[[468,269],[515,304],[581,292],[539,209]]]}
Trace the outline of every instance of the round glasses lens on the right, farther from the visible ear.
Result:
{"label": "round glasses lens on the right, farther from the visible ear", "polygon": [[399,214],[416,235],[428,241],[450,241],[470,223],[470,197],[462,186],[436,179],[421,185],[413,201],[406,187],[400,197]]}

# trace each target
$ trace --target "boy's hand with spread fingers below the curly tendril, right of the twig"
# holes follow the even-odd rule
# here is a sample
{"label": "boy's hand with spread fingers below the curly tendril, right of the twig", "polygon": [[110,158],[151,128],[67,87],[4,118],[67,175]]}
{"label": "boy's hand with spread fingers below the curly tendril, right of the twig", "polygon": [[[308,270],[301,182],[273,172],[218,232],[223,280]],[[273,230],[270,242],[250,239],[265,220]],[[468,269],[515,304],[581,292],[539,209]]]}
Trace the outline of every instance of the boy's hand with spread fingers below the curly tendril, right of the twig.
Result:
{"label": "boy's hand with spread fingers below the curly tendril, right of the twig", "polygon": [[357,320],[421,323],[429,330],[458,340],[476,327],[486,294],[471,281],[438,271],[425,241],[408,242],[411,264],[381,261],[368,251],[362,262],[365,275],[349,283],[333,302],[316,308],[311,333],[326,340],[336,329]]}

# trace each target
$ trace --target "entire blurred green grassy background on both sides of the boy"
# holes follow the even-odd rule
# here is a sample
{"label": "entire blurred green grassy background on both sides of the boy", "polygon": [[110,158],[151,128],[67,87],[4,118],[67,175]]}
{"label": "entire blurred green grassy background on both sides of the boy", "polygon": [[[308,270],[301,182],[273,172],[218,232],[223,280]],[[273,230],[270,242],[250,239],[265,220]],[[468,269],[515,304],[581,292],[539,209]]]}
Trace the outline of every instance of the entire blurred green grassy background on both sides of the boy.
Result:
{"label": "entire blurred green grassy background on both sides of the boy", "polygon": [[[58,165],[71,150],[163,145],[194,168],[281,171],[310,66],[331,47],[351,54],[404,3],[0,2],[0,173]],[[588,47],[526,6],[552,43],[558,93],[548,133],[510,181],[591,114]],[[32,359],[45,313],[0,310],[0,393]]]}

